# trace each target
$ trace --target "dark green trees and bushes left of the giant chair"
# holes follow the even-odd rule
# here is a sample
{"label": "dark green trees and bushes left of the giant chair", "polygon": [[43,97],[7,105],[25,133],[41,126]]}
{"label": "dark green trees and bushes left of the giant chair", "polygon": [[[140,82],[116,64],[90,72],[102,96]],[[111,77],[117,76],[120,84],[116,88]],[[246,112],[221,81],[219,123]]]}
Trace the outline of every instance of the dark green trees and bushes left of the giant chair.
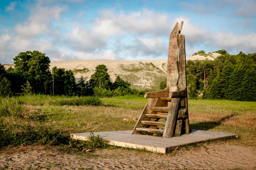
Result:
{"label": "dark green trees and bushes left of the giant chair", "polygon": [[129,88],[117,76],[111,82],[108,68],[98,65],[89,81],[80,78],[76,83],[73,71],[53,67],[50,59],[39,51],[21,52],[13,58],[15,67],[7,70],[0,65],[0,96],[50,94],[66,96],[120,96],[143,95],[146,91]]}

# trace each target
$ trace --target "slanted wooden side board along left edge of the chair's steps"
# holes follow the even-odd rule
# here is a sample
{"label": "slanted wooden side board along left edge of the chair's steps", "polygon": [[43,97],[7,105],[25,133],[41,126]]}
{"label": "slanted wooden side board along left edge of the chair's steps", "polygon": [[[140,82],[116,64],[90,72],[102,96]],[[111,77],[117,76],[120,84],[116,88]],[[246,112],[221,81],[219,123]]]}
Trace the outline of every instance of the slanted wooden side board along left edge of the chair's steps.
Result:
{"label": "slanted wooden side board along left edge of the chair's steps", "polygon": [[149,98],[148,99],[148,102],[147,104],[145,105],[141,115],[140,115],[140,118],[138,119],[135,127],[134,127],[134,130],[132,132],[132,134],[136,134],[138,133],[138,131],[136,130],[137,127],[146,127],[146,125],[141,125],[140,124],[140,121],[142,120],[150,120],[150,118],[148,118],[147,116],[145,116],[146,113],[151,113],[151,107],[154,107],[157,105],[157,101],[158,101],[159,98]]}

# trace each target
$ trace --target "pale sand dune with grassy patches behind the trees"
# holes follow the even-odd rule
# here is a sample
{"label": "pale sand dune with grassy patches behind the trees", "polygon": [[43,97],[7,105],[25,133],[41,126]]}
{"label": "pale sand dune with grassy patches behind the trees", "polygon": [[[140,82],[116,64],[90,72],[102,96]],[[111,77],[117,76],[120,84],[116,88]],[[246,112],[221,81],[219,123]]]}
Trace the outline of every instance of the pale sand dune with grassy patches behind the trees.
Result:
{"label": "pale sand dune with grassy patches behind the trees", "polygon": [[[186,57],[186,60],[213,60],[220,54],[211,53],[210,56],[195,55]],[[122,79],[131,84],[131,88],[137,89],[157,89],[160,82],[166,79],[167,58],[166,59],[151,59],[151,60],[72,60],[72,61],[52,61],[52,67],[65,68],[74,71],[76,81],[78,82],[81,76],[87,81],[95,72],[97,65],[104,64],[108,68],[108,74],[111,81],[114,82],[116,76],[119,75]],[[11,65],[5,65],[9,68]]]}

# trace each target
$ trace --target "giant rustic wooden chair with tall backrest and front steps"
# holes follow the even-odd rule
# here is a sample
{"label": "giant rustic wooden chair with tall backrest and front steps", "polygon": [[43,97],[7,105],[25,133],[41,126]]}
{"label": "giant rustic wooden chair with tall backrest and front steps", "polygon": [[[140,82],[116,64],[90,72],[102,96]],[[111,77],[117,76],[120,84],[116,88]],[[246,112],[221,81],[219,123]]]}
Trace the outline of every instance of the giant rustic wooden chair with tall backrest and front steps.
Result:
{"label": "giant rustic wooden chair with tall backrest and front steps", "polygon": [[163,138],[189,134],[188,97],[186,87],[186,54],[183,21],[177,22],[169,41],[167,87],[148,92],[149,98],[132,134],[158,133]]}

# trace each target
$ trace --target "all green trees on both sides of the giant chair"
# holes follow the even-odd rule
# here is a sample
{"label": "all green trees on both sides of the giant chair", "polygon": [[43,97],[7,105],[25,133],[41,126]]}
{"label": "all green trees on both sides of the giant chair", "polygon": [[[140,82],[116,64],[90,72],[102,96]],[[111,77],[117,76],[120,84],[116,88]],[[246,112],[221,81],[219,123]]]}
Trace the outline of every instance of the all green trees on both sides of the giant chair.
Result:
{"label": "all green trees on both sides of the giant chair", "polygon": [[[226,50],[214,60],[188,60],[186,79],[190,99],[229,99],[256,101],[256,53],[237,55]],[[198,51],[205,55],[205,51]],[[194,54],[194,55],[195,55]],[[143,96],[147,90],[129,88],[129,83],[119,76],[111,82],[108,68],[98,65],[90,80],[83,77],[76,83],[74,73],[64,68],[52,68],[50,59],[39,51],[20,52],[13,58],[15,68],[0,65],[0,96],[47,94],[53,96],[124,95]],[[166,81],[159,82],[160,89]],[[148,89],[150,91],[151,89]]]}

